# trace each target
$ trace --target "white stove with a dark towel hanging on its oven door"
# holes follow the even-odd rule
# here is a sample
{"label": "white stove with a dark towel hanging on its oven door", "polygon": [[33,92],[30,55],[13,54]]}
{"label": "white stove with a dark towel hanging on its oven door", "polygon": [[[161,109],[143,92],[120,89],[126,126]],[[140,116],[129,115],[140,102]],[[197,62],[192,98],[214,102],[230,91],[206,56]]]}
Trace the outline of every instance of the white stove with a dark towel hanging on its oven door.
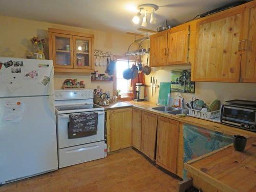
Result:
{"label": "white stove with a dark towel hanging on its oven door", "polygon": [[[59,168],[104,157],[104,108],[93,104],[93,90],[55,90]],[[98,113],[97,134],[68,138],[69,115]]]}

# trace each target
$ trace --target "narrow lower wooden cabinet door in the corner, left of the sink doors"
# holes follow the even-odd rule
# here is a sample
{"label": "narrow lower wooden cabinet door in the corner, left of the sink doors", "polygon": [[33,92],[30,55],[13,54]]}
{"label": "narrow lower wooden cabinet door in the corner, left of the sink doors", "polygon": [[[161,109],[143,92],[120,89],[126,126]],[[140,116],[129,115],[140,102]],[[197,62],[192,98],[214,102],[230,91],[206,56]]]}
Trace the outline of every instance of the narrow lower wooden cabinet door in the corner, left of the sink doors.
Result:
{"label": "narrow lower wooden cabinet door in the corner, left of the sink doors", "polygon": [[141,151],[141,116],[141,110],[132,110],[132,146],[139,151]]}

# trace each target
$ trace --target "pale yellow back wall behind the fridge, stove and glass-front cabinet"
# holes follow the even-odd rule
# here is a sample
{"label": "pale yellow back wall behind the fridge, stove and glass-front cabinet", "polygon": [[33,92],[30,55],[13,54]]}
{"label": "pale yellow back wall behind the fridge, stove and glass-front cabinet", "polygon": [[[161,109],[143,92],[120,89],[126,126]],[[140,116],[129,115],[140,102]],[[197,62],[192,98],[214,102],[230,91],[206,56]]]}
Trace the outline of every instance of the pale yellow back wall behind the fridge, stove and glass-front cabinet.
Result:
{"label": "pale yellow back wall behind the fridge, stove and glass-front cabinet", "polygon": [[[86,22],[86,20],[84,20]],[[33,47],[30,39],[33,36],[45,38],[48,43],[48,28],[57,28],[70,31],[78,31],[91,33],[95,36],[94,47],[103,51],[111,51],[114,55],[123,55],[128,46],[134,40],[134,37],[121,33],[109,33],[95,31],[84,28],[64,26],[46,22],[36,22],[34,20],[20,19],[15,17],[7,17],[0,15],[0,56],[2,57],[20,57],[26,58],[30,54]],[[46,47],[46,58],[49,58],[49,49]],[[96,67],[100,74],[105,71],[104,66]],[[103,88],[104,91],[110,91],[112,94],[113,83],[91,83],[90,75],[54,75],[55,89],[61,89],[62,82],[66,78],[77,78],[86,82],[86,89],[94,89],[97,86]]]}

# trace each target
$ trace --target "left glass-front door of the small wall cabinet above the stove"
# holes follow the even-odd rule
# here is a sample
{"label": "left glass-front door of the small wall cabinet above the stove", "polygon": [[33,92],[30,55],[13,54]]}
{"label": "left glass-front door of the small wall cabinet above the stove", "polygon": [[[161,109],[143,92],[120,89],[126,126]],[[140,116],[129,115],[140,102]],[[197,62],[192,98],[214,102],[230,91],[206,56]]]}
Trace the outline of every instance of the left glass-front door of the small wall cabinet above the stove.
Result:
{"label": "left glass-front door of the small wall cabinet above the stove", "polygon": [[58,68],[73,68],[73,35],[53,33],[53,63]]}

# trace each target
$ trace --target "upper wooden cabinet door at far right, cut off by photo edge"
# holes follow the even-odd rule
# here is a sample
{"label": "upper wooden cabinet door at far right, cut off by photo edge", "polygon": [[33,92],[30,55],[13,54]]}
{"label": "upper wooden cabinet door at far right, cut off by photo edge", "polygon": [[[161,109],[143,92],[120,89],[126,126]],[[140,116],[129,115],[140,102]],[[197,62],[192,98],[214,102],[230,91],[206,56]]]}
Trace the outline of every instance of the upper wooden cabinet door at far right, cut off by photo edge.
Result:
{"label": "upper wooden cabinet door at far right, cut off by photo edge", "polygon": [[241,49],[241,81],[256,82],[256,1],[246,4]]}

